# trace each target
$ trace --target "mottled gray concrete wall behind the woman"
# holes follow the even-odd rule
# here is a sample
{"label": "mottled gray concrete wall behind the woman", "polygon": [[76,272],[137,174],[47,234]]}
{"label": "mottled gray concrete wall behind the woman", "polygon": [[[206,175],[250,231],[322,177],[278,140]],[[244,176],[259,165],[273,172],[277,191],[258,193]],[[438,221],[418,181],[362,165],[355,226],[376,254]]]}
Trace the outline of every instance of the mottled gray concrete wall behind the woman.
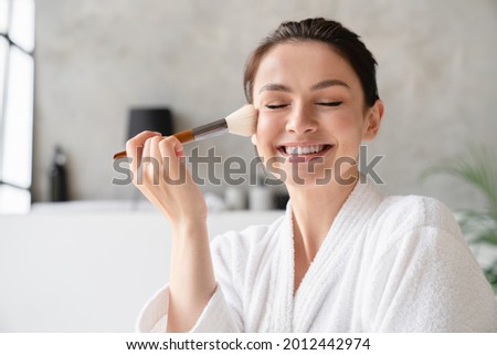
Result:
{"label": "mottled gray concrete wall behind the woman", "polygon": [[[129,198],[131,187],[110,181],[121,177],[112,156],[130,106],[168,105],[178,129],[222,117],[244,103],[242,71],[256,43],[283,20],[316,15],[361,34],[380,64],[385,115],[369,154],[385,156],[382,188],[480,203],[457,180],[417,177],[468,143],[496,150],[494,0],[39,0],[34,199],[47,198],[55,144],[68,155],[74,199]],[[254,156],[250,139],[201,147],[213,145],[224,157]]]}

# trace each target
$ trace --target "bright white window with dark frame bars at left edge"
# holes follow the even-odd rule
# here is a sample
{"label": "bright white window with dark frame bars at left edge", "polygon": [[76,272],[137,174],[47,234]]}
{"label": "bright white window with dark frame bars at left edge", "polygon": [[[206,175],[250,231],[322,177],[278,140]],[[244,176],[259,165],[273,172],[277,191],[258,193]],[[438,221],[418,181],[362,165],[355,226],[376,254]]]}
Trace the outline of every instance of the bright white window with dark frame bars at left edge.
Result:
{"label": "bright white window with dark frame bars at left edge", "polygon": [[0,213],[31,205],[34,0],[0,0]]}

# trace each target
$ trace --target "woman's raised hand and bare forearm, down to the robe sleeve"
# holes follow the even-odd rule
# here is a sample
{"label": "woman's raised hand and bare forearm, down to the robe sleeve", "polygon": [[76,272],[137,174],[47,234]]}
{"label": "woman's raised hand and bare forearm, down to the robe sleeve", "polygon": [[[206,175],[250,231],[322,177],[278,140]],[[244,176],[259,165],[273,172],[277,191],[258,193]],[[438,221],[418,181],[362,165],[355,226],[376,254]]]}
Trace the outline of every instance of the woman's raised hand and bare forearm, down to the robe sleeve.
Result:
{"label": "woman's raised hand and bare forearm, down to the robe sleeve", "polygon": [[172,225],[167,330],[187,332],[215,290],[205,200],[175,136],[142,132],[126,143],[126,154],[134,184]]}

